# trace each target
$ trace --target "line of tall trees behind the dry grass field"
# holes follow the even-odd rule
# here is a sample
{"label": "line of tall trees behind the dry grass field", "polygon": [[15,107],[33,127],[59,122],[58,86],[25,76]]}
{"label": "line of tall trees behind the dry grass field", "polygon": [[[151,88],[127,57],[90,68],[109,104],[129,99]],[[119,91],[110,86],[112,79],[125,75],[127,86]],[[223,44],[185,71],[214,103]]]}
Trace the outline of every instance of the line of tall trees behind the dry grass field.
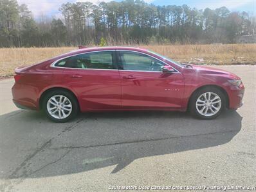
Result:
{"label": "line of tall trees behind the dry grass field", "polygon": [[26,4],[0,1],[0,47],[120,44],[235,43],[256,33],[256,18],[221,7],[197,10],[141,0],[65,3],[61,19],[33,18]]}

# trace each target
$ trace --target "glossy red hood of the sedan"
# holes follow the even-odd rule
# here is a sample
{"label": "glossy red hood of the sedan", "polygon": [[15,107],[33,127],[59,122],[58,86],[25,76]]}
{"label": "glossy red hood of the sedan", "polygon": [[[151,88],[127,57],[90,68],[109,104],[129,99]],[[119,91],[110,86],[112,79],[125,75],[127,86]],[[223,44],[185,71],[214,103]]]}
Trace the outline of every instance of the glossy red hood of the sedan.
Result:
{"label": "glossy red hood of the sedan", "polygon": [[214,67],[208,67],[208,66],[203,66],[203,65],[191,65],[192,69],[195,70],[195,72],[199,72],[201,74],[212,74],[212,75],[226,75],[230,76],[232,79],[240,79],[237,75],[228,72],[226,70],[221,70],[219,68],[214,68]]}

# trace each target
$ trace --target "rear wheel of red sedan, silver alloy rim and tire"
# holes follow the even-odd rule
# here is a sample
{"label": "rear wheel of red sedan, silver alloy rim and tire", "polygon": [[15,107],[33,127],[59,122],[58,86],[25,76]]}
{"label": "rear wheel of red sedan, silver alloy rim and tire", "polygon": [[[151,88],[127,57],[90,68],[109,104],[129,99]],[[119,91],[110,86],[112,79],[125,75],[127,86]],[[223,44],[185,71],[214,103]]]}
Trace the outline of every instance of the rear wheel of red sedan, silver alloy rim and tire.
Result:
{"label": "rear wheel of red sedan, silver alloy rim and tire", "polygon": [[53,122],[64,123],[77,115],[78,104],[71,93],[56,90],[45,95],[43,109]]}

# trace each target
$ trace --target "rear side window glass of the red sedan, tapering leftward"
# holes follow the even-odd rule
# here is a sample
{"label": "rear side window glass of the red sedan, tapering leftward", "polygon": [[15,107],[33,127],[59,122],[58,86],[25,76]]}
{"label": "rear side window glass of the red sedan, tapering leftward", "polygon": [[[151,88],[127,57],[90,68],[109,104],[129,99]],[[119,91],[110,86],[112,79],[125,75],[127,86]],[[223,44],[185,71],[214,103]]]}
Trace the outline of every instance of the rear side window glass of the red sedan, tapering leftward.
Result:
{"label": "rear side window glass of the red sedan, tapering leftward", "polygon": [[111,51],[78,54],[58,61],[55,67],[113,69],[113,56]]}

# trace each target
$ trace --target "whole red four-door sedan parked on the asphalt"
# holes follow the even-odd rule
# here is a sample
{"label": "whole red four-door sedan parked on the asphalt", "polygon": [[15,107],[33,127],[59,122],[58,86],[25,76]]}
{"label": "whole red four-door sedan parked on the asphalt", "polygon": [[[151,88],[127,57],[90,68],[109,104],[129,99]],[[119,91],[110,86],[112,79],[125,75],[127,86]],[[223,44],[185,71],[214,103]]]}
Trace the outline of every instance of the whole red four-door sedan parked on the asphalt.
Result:
{"label": "whole red four-door sedan parked on the asphalt", "polygon": [[230,72],[181,64],[133,47],[84,48],[15,69],[19,108],[55,122],[78,111],[187,111],[212,119],[242,106],[244,85]]}

